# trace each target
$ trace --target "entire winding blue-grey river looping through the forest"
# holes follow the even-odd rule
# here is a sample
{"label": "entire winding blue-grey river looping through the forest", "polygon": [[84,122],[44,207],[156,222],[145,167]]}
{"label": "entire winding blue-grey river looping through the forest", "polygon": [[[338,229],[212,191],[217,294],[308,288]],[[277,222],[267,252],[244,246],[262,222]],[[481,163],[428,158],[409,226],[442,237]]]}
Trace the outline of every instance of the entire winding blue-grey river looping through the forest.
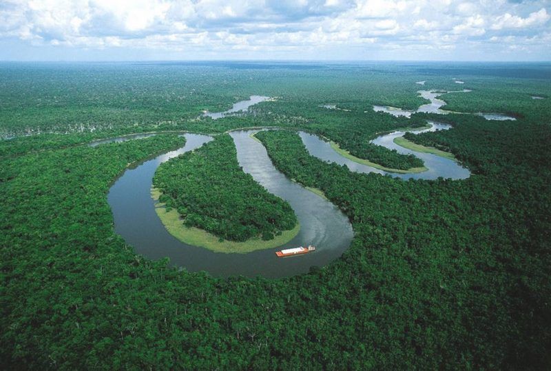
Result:
{"label": "entire winding blue-grey river looping through the forest", "polygon": [[[251,106],[253,97],[242,105],[239,104],[242,102],[236,103],[234,105],[236,110],[232,112],[247,109]],[[257,100],[265,101],[268,99],[268,97],[260,98],[260,100]],[[430,110],[433,109],[438,110],[439,107],[430,108]],[[224,114],[219,117],[223,116]],[[213,118],[219,117],[215,116]],[[446,124],[430,122],[430,128],[417,130],[417,132],[449,128],[450,126]],[[127,169],[114,183],[107,196],[107,201],[112,208],[115,232],[120,234],[129,245],[134,246],[138,254],[143,254],[149,259],[169,257],[172,264],[185,268],[190,272],[204,270],[215,277],[228,277],[230,275],[244,275],[247,277],[262,275],[269,278],[290,277],[308,272],[313,266],[326,265],[340,257],[344,250],[349,248],[353,239],[353,230],[349,220],[333,203],[306,190],[302,185],[287,179],[284,174],[279,172],[273,166],[264,146],[251,137],[251,134],[255,132],[258,132],[258,130],[230,132],[236,145],[240,166],[242,166],[243,171],[251,174],[253,179],[269,192],[288,201],[297,215],[301,227],[300,232],[289,243],[285,244],[284,248],[313,244],[317,247],[314,253],[287,259],[280,259],[275,256],[275,251],[280,250],[280,248],[259,250],[248,254],[224,254],[187,245],[169,234],[155,212],[155,201],[150,194],[152,180],[160,163],[184,152],[195,150],[212,140],[211,137],[202,134],[184,134],[186,142],[182,148],[161,154],[154,159],[149,159],[138,166]],[[373,143],[395,149],[403,154],[415,154],[415,156],[423,159],[425,166],[428,168],[426,172],[416,174],[384,172],[342,157],[331,148],[328,142],[322,141],[313,134],[306,132],[299,132],[299,134],[310,154],[324,161],[346,165],[351,171],[355,172],[375,172],[402,179],[437,179],[438,177],[464,179],[470,175],[467,169],[453,160],[438,157],[434,154],[415,152],[398,146],[393,140],[402,136],[404,132],[391,132],[382,135],[374,139]],[[145,135],[151,136],[152,134]],[[134,136],[103,139],[92,142],[90,145],[98,146],[103,143],[141,139],[145,135],[136,134]]]}

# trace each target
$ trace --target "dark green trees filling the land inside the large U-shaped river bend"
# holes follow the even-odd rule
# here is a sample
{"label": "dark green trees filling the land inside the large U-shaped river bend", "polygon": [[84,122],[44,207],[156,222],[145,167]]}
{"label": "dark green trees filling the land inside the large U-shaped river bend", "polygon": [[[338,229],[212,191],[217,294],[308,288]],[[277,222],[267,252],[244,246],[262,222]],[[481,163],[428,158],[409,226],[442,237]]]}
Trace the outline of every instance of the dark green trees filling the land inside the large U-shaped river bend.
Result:
{"label": "dark green trees filling the land inside the large U-shaped river bend", "polygon": [[221,239],[267,241],[297,224],[289,203],[242,171],[228,134],[163,163],[153,184],[163,193],[159,201],[176,208],[184,225]]}

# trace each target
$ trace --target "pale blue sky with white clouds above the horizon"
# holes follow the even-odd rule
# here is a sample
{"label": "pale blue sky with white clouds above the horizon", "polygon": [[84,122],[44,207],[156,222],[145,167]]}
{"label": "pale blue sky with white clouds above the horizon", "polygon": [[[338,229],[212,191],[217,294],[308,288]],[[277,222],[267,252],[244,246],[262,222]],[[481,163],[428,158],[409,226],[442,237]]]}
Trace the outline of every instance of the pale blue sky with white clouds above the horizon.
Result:
{"label": "pale blue sky with white clouds above the horizon", "polygon": [[551,61],[551,0],[0,0],[2,61]]}

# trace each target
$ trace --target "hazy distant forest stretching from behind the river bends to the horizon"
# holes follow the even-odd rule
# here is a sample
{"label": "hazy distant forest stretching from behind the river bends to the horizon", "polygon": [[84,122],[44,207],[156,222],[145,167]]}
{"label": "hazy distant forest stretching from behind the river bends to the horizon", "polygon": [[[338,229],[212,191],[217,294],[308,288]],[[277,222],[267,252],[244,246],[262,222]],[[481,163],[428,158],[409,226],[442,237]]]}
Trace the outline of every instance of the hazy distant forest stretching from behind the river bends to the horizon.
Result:
{"label": "hazy distant forest stretching from behind the river bends to the horizon", "polygon": [[[430,66],[378,63],[264,68],[265,63],[55,63],[0,64],[0,137],[37,132],[155,130],[224,132],[250,126],[300,126],[321,134],[355,157],[407,170],[420,160],[368,144],[378,132],[424,126],[373,112],[373,105],[413,110],[428,103],[419,89],[473,89],[444,94],[446,109],[501,112],[548,122],[551,97],[547,66]],[[446,71],[446,74],[441,74]],[[503,71],[507,71],[504,73]],[[530,73],[525,73],[526,71]],[[55,79],[52,79],[52,74]],[[464,80],[459,85],[450,76]],[[495,76],[499,76],[496,78]],[[176,78],[175,78],[176,77]],[[424,86],[415,81],[426,80]],[[212,121],[203,110],[262,94],[278,97],[253,108],[251,117]],[[321,107],[332,103],[344,110]]]}

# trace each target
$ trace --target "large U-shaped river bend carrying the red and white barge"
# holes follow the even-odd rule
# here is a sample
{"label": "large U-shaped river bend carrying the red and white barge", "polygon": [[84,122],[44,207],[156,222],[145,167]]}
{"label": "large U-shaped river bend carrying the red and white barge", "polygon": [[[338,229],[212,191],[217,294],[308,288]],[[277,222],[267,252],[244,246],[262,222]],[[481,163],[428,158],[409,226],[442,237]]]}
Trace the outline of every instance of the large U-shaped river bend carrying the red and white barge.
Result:
{"label": "large U-shaped river bend carrying the red and white barge", "polygon": [[149,259],[169,257],[172,264],[190,272],[205,270],[215,277],[242,274],[278,278],[308,272],[311,266],[325,265],[342,255],[353,238],[352,226],[332,203],[275,169],[262,144],[251,139],[254,131],[232,132],[238,160],[245,172],[291,204],[300,221],[300,232],[284,248],[313,244],[315,252],[300,257],[278,258],[281,248],[249,254],[223,254],[187,245],[171,236],[158,218],[150,189],[156,168],[172,157],[194,150],[211,140],[199,134],[185,134],[185,146],[145,161],[126,172],[114,183],[107,196],[112,208],[115,232]]}

